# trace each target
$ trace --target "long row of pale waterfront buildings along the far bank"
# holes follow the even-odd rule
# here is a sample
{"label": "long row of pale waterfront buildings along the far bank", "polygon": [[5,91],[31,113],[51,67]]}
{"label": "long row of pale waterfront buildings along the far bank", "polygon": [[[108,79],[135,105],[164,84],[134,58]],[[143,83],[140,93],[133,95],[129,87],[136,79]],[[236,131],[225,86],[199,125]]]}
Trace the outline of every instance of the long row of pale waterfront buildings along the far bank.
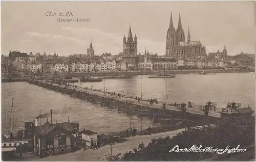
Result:
{"label": "long row of pale waterfront buildings along the far bank", "polygon": [[[247,58],[244,58],[247,57]],[[225,68],[231,66],[242,67],[253,62],[252,56],[241,53],[234,59],[223,60],[176,60],[165,57],[151,58],[144,55],[143,61],[138,64],[125,60],[112,60],[108,57],[94,62],[72,62],[72,63],[54,63],[54,62],[37,62],[35,60],[18,61],[17,69],[29,72],[44,73],[83,73],[83,72],[102,72],[102,71],[127,71],[127,70],[177,70],[177,69],[202,69],[202,68]],[[240,61],[239,61],[240,58]],[[248,59],[251,59],[250,61]],[[244,60],[244,61],[243,61]],[[255,63],[255,62],[254,62]],[[252,65],[251,65],[252,66]]]}

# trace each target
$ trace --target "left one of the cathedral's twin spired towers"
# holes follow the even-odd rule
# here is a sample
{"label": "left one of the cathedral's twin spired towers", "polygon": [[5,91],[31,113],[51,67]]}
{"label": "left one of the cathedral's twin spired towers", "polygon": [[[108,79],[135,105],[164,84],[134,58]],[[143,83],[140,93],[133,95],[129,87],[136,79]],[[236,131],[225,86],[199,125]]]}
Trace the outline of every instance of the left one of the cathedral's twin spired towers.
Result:
{"label": "left one of the cathedral's twin spired towers", "polygon": [[176,45],[177,45],[176,31],[175,31],[174,23],[173,23],[173,15],[172,15],[172,13],[170,13],[170,24],[169,24],[169,28],[167,30],[167,35],[166,35],[165,55],[166,56],[175,55],[174,48]]}

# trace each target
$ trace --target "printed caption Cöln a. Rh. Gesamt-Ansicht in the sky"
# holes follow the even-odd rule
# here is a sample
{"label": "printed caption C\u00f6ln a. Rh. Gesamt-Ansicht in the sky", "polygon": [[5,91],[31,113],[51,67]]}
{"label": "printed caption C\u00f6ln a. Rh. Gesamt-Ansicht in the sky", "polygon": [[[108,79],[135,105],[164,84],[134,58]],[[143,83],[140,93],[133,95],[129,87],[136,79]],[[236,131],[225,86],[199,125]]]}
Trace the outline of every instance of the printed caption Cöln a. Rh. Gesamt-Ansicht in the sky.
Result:
{"label": "printed caption C\u00f6ln a. Rh. Gesamt-Ansicht in the sky", "polygon": [[90,22],[90,18],[74,18],[71,11],[56,13],[54,11],[46,11],[45,16],[47,17],[58,17],[57,22]]}

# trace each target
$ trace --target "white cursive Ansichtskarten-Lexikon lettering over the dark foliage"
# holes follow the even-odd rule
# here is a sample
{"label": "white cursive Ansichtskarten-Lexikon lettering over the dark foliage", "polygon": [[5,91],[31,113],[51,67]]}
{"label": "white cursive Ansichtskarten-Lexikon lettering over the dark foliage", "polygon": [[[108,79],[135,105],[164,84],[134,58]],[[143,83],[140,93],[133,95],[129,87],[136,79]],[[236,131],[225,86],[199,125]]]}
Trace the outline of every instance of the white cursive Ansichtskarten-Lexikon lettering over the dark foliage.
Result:
{"label": "white cursive Ansichtskarten-Lexikon lettering over the dark foliage", "polygon": [[169,152],[216,152],[218,154],[223,154],[223,153],[234,153],[234,152],[245,152],[246,149],[240,149],[240,145],[238,145],[236,148],[229,148],[230,146],[228,145],[225,149],[216,149],[212,147],[206,147],[202,148],[203,145],[200,145],[197,147],[196,145],[193,145],[190,148],[183,148],[180,149],[179,145],[174,146],[172,150]]}

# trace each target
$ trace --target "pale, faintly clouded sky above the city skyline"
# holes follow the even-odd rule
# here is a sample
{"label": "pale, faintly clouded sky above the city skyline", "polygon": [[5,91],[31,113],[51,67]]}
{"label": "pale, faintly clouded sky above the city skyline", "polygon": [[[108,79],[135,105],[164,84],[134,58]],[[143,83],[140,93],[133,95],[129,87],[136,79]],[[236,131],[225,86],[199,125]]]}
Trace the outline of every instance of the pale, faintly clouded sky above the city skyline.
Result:
{"label": "pale, faintly clouded sky above the city skyline", "polygon": [[[56,16],[46,16],[54,12]],[[66,13],[72,16],[67,17]],[[59,14],[63,14],[61,16]],[[227,48],[228,55],[255,53],[254,2],[2,2],[2,53],[9,50],[59,56],[123,51],[129,24],[137,35],[137,51],[165,55],[170,14],[177,28],[179,13],[187,36],[200,40],[206,52]],[[90,22],[57,22],[57,19]],[[187,39],[185,37],[185,39]]]}

